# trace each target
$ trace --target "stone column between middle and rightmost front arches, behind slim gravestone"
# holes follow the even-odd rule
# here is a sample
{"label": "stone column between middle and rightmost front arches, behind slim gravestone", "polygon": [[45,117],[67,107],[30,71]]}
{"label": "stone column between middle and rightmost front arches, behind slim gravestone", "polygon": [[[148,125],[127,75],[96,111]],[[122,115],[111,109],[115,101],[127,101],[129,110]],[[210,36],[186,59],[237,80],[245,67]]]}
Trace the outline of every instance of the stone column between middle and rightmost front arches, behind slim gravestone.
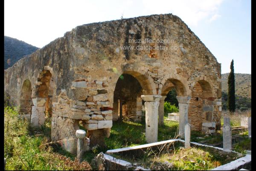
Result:
{"label": "stone column between middle and rightmost front arches, behind slim gravestone", "polygon": [[180,138],[184,138],[185,135],[185,125],[189,121],[189,101],[191,99],[190,96],[176,96],[177,101],[179,102],[179,136]]}

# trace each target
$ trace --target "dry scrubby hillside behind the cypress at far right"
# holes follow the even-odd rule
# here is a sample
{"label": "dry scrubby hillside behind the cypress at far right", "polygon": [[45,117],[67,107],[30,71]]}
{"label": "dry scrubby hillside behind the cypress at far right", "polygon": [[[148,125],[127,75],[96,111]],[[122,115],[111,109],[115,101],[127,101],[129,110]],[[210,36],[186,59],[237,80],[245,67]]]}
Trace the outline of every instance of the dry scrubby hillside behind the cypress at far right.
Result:
{"label": "dry scrubby hillside behind the cypress at far right", "polygon": [[[221,89],[224,93],[227,93],[229,73],[221,74]],[[251,98],[251,75],[235,73],[235,90],[237,96],[245,98]]]}

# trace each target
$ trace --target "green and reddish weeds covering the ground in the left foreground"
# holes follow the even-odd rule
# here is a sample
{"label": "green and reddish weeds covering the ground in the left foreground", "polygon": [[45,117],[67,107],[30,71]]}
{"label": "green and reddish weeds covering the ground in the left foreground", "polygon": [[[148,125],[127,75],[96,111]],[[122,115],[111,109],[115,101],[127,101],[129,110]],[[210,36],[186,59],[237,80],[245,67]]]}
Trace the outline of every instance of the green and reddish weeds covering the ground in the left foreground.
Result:
{"label": "green and reddish weeds covering the ground in the left foreground", "polygon": [[17,108],[4,109],[4,157],[6,170],[91,170],[87,161],[79,163],[58,144],[50,142],[51,123],[32,129],[18,117]]}

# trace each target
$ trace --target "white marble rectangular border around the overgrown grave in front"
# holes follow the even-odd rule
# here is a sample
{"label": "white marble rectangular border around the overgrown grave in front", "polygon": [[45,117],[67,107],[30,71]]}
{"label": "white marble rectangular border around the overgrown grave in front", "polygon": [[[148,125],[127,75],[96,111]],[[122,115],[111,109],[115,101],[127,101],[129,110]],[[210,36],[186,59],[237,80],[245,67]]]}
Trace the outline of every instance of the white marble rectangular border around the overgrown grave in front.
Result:
{"label": "white marble rectangular border around the overgrown grave in front", "polygon": [[[182,139],[170,139],[170,140],[161,141],[161,142],[154,142],[154,143],[149,143],[149,144],[144,144],[144,145],[137,145],[137,146],[134,146],[134,147],[118,148],[118,149],[113,149],[113,150],[106,151],[106,154],[104,154],[104,158],[105,158],[105,161],[107,161],[109,164],[112,163],[112,164],[115,164],[115,165],[119,165],[120,168],[127,168],[127,170],[131,170],[132,168],[134,168],[135,170],[138,170],[138,169],[139,170],[148,170],[148,169],[145,169],[141,166],[137,166],[137,165],[134,165],[130,162],[127,162],[125,160],[116,159],[115,157],[112,157],[111,154],[117,154],[117,153],[120,153],[120,152],[123,152],[123,151],[133,151],[133,150],[136,151],[136,150],[139,150],[139,149],[142,149],[142,148],[154,147],[154,146],[164,145],[166,143],[177,142],[177,141],[185,143],[185,141],[182,140]],[[211,146],[211,145],[204,145],[204,144],[200,144],[200,143],[197,143],[197,142],[191,142],[191,144],[198,145],[198,146],[209,147],[209,148],[215,148],[217,150],[223,151],[223,148],[214,147],[214,146]],[[239,154],[236,151],[232,151],[232,152]],[[246,154],[244,157],[240,157],[239,159],[236,159],[236,160],[234,160],[232,162],[229,162],[225,165],[221,165],[221,166],[218,166],[216,168],[213,168],[212,170],[239,170],[239,169],[244,168],[244,167],[249,169],[249,170],[251,168],[251,155],[250,154]]]}

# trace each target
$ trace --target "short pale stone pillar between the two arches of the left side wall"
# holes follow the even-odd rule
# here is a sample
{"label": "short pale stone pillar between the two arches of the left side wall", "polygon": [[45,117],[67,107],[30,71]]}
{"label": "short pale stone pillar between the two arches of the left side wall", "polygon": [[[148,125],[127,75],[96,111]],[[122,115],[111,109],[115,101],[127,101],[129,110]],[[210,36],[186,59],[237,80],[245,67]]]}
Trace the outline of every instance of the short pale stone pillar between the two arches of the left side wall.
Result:
{"label": "short pale stone pillar between the two arches of the left side wall", "polygon": [[31,114],[31,126],[38,127],[44,125],[45,121],[45,103],[47,98],[33,98],[32,99],[34,106],[32,106]]}

